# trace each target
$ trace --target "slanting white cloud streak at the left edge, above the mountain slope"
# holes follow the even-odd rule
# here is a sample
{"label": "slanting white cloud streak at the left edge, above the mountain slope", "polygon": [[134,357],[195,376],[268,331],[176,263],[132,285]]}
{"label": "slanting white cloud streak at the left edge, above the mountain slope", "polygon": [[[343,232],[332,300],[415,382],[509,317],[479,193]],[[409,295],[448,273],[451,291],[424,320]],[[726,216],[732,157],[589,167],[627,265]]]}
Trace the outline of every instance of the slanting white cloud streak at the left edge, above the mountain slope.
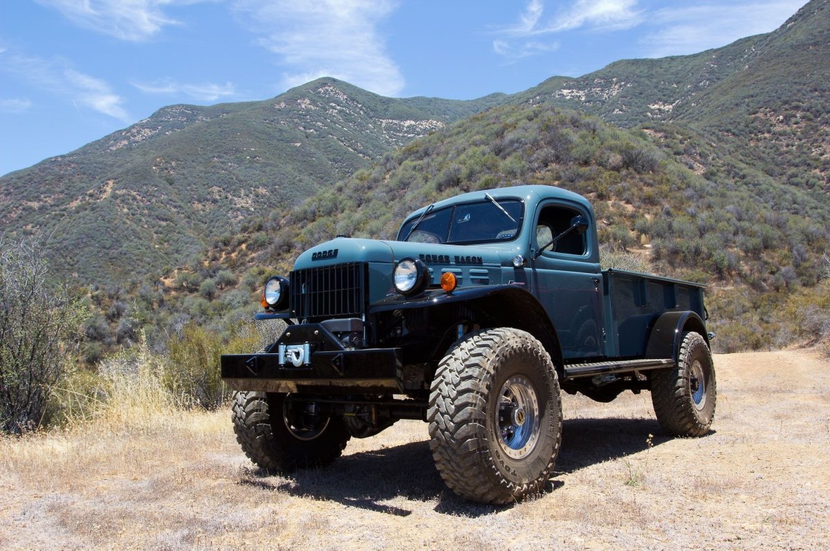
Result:
{"label": "slanting white cloud streak at the left edge, above the mountain slope", "polygon": [[63,59],[52,61],[36,56],[0,52],[0,71],[6,71],[21,80],[53,95],[60,96],[75,105],[81,105],[128,122],[124,100],[115,94],[110,85],[94,76],[77,71]]}

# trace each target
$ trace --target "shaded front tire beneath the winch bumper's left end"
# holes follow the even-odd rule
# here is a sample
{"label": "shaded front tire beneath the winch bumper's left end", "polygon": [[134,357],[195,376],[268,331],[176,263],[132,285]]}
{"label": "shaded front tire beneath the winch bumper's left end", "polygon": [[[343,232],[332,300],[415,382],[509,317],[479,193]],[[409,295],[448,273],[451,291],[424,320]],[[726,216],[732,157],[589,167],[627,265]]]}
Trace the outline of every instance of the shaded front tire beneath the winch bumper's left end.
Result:
{"label": "shaded front tire beneath the winch bumper's left end", "polygon": [[233,432],[242,451],[267,471],[291,472],[328,465],[351,435],[342,417],[303,417],[288,394],[237,392],[233,395]]}

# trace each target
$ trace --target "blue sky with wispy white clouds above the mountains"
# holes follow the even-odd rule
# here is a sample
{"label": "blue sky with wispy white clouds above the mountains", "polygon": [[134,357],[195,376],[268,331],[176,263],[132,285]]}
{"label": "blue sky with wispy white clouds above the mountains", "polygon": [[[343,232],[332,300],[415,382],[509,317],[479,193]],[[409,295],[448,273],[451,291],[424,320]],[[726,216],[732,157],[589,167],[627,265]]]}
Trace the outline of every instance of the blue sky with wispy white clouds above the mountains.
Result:
{"label": "blue sky with wispy white clouds above the mountains", "polygon": [[779,27],[805,0],[3,0],[0,174],[164,105],[265,100],[319,76],[473,99]]}

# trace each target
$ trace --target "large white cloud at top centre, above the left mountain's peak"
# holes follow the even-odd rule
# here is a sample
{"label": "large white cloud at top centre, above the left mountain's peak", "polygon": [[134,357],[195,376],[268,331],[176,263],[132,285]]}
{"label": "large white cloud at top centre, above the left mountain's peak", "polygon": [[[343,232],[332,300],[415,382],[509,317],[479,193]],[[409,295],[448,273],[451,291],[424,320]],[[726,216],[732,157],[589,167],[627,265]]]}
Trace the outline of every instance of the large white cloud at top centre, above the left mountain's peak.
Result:
{"label": "large white cloud at top centre, above the left mountain's peak", "polygon": [[260,44],[289,69],[284,85],[333,76],[381,95],[397,95],[404,80],[378,27],[393,0],[237,0],[237,14]]}

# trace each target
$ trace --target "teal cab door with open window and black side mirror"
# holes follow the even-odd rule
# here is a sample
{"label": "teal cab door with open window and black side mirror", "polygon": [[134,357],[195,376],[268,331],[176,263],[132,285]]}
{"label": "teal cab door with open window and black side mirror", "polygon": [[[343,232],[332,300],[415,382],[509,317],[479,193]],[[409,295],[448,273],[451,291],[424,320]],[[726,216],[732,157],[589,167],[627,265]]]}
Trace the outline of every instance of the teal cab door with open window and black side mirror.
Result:
{"label": "teal cab door with open window and black side mirror", "polygon": [[[584,217],[588,229],[569,228]],[[564,201],[540,203],[530,236],[531,290],[553,321],[564,358],[599,356],[603,349],[602,289],[596,226],[590,212]],[[559,240],[539,252],[556,236]]]}

